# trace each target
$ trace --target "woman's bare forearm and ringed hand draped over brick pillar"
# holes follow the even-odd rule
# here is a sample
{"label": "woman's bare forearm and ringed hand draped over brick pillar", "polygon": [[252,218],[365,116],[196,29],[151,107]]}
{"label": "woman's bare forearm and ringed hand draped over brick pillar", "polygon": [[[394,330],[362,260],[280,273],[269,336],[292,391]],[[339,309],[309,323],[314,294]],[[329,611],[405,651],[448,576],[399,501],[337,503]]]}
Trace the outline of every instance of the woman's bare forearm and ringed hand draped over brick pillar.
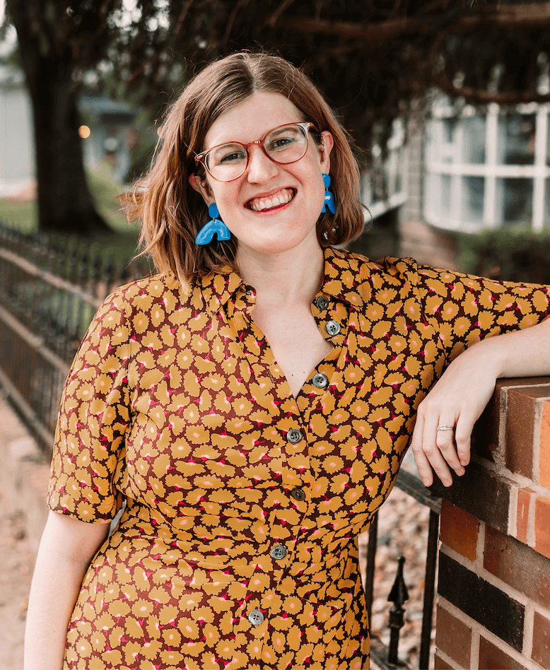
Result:
{"label": "woman's bare forearm and ringed hand draped over brick pillar", "polygon": [[537,326],[484,339],[455,358],[416,417],[411,448],[424,485],[433,483],[433,471],[445,486],[452,484],[450,468],[464,474],[472,428],[499,377],[541,375],[550,375],[550,317]]}

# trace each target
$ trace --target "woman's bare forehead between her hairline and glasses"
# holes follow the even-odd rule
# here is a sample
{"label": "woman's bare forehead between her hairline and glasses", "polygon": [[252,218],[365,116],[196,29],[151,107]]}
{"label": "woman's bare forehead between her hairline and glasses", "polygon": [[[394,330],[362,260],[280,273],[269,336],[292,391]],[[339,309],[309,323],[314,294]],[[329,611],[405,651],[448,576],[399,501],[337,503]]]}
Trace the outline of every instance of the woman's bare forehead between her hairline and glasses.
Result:
{"label": "woman's bare forehead between her hairline and glasses", "polygon": [[277,126],[303,120],[298,107],[284,95],[257,91],[213,122],[204,145],[207,148],[232,141],[246,144]]}

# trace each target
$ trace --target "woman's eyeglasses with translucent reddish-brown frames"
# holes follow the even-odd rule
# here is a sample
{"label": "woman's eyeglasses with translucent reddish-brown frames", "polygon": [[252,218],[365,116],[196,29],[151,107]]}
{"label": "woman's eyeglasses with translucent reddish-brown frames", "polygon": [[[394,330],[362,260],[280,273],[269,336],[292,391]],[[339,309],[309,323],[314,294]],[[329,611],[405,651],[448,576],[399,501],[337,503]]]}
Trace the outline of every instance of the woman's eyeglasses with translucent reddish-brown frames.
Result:
{"label": "woman's eyeglasses with translucent reddish-brown frames", "polygon": [[280,165],[296,163],[308,151],[310,128],[314,128],[310,122],[278,126],[265,134],[262,139],[248,144],[230,142],[213,146],[196,155],[195,161],[204,165],[216,182],[232,182],[245,174],[250,163],[248,148],[252,144],[259,144],[267,158],[274,163]]}

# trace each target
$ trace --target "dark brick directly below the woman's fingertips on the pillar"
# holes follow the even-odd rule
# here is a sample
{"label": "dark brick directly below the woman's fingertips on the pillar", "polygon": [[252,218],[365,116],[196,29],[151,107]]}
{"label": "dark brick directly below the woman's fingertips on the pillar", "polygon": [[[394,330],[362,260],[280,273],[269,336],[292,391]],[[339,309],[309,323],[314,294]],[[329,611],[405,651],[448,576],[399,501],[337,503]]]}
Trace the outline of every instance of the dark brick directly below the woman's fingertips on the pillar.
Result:
{"label": "dark brick directly below the woman's fingertips on the pillar", "polygon": [[453,474],[452,486],[447,488],[438,478],[436,480],[429,487],[433,495],[469,512],[501,533],[508,533],[510,486],[513,486],[510,479],[472,462],[462,477]]}

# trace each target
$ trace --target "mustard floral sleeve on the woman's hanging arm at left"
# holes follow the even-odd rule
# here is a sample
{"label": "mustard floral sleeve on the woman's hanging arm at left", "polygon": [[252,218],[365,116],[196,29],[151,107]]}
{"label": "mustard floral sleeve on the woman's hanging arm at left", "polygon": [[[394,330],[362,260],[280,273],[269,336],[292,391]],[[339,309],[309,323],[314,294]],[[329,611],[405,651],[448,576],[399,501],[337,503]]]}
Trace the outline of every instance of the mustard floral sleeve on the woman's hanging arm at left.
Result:
{"label": "mustard floral sleeve on the woman's hanging arm at left", "polygon": [[115,517],[114,481],[129,424],[129,307],[122,289],[95,315],[62,395],[47,504],[80,521]]}

